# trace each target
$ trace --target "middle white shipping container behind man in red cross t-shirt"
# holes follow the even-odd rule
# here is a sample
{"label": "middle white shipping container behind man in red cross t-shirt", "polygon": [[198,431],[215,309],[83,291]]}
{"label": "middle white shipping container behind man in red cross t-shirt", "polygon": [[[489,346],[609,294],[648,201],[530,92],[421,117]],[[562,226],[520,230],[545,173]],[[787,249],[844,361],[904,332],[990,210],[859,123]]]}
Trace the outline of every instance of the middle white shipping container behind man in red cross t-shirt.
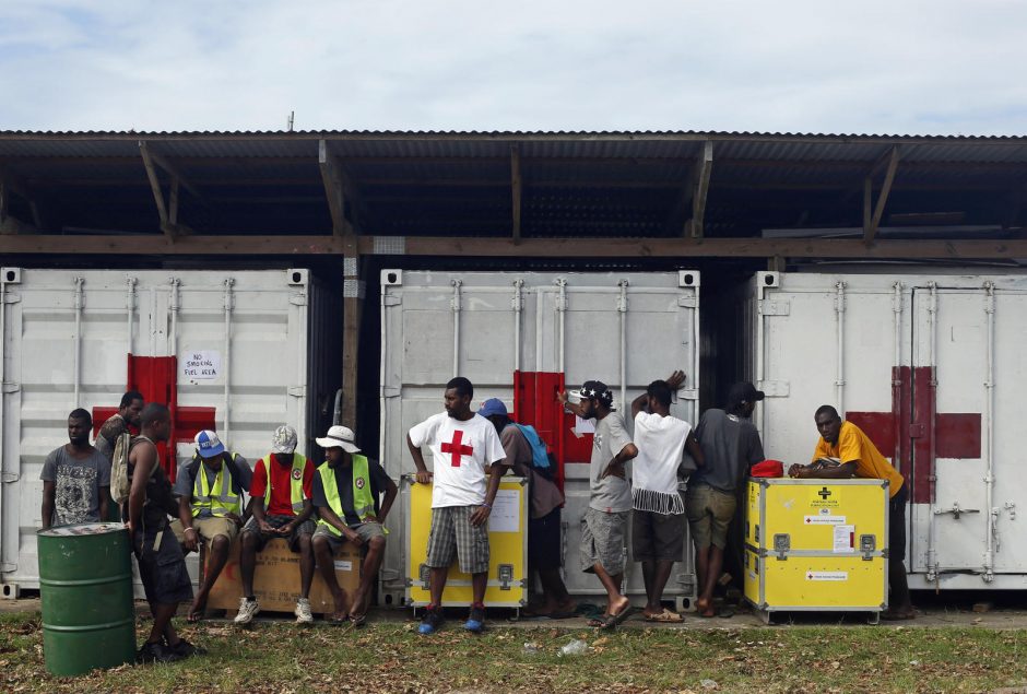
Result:
{"label": "middle white shipping container behind man in red cross t-shirt", "polygon": [[[624,403],[630,403],[650,381],[680,368],[687,376],[686,388],[672,412],[693,424],[697,420],[697,272],[383,270],[381,284],[380,456],[393,479],[414,471],[406,432],[442,411],[445,385],[457,375],[474,384],[475,408],[498,397],[512,409],[515,373],[563,375],[570,388],[586,379],[600,379],[619,393],[617,407],[626,408]],[[545,409],[555,400],[555,389],[539,397],[545,402],[523,407]],[[630,420],[630,412],[626,414]],[[574,436],[569,431],[567,435]],[[548,443],[555,445],[552,438]],[[588,477],[586,462],[564,466],[563,565],[567,587],[575,595],[602,592],[599,580],[579,568]],[[393,507],[389,515],[393,533],[405,525],[401,513]],[[687,539],[685,546],[668,584],[668,598],[694,597],[693,551]],[[409,578],[402,548],[402,542],[390,542],[387,549],[381,575],[387,602],[402,599]],[[628,591],[645,596],[640,565],[630,555],[628,560]]]}

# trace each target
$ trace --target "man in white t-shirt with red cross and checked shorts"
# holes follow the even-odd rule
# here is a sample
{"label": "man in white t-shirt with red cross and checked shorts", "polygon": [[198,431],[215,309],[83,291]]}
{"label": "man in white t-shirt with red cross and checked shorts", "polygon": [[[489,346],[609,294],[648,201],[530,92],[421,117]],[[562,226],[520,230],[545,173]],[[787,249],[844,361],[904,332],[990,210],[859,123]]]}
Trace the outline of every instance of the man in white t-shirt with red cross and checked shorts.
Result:
{"label": "man in white t-shirt with red cross and checked shorts", "polygon": [[[485,628],[485,588],[488,585],[488,529],[486,524],[492,504],[499,491],[499,478],[506,459],[496,427],[471,410],[474,386],[462,376],[446,384],[446,411],[439,412],[410,430],[406,446],[417,468],[417,482],[432,490],[432,530],[428,533],[428,557],[432,569],[428,604],[417,630],[434,634],[442,623],[442,590],[446,574],[456,554],[460,571],[471,574],[473,602],[463,625],[469,632]],[[434,459],[434,471],[424,462],[421,447],[427,446]],[[495,464],[498,463],[498,464]],[[492,466],[487,477],[485,470]]]}

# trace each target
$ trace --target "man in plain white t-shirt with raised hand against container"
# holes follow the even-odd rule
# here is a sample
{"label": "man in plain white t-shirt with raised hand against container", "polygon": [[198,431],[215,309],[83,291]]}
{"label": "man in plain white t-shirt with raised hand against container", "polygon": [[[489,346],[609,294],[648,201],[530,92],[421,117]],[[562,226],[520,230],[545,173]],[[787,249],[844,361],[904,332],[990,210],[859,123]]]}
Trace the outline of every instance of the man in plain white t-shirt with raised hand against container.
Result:
{"label": "man in plain white t-shirt with raised hand against container", "polygon": [[[687,450],[698,464],[703,451],[692,425],[671,415],[671,398],[685,383],[683,372],[654,380],[631,402],[635,446],[631,468],[631,549],[641,562],[646,581],[646,609],[650,622],[681,622],[681,615],[663,607],[663,589],[685,544],[685,503],[677,490],[677,471]],[[648,410],[648,411],[647,411]]]}

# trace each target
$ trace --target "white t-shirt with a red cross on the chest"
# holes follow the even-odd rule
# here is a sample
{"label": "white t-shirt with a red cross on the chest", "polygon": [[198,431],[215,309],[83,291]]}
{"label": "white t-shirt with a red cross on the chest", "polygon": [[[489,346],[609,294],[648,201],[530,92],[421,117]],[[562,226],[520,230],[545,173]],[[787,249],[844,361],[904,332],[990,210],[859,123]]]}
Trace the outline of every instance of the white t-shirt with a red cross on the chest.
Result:
{"label": "white t-shirt with a red cross on the chest", "polygon": [[483,504],[485,467],[506,458],[496,427],[480,414],[461,422],[439,412],[411,428],[410,440],[432,451],[432,508]]}

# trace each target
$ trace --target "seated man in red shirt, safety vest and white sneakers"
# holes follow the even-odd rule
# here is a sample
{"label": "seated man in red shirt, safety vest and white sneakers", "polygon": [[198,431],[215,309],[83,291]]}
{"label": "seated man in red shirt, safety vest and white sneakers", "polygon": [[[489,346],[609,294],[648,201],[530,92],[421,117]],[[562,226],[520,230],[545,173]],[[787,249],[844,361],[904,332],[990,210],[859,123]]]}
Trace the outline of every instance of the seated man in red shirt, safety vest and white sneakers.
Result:
{"label": "seated man in red shirt, safety vest and white sneakers", "polygon": [[243,598],[236,624],[249,624],[260,611],[253,595],[253,573],[257,571],[257,552],[268,540],[285,538],[288,549],[299,553],[299,599],[296,601],[296,622],[310,624],[310,584],[314,581],[314,505],[310,503],[310,484],[314,464],[296,452],[296,430],[280,426],[271,437],[271,452],[257,461],[253,481],[250,484],[250,511],[252,517],[243,527],[243,545],[239,552],[239,578],[243,581]]}

